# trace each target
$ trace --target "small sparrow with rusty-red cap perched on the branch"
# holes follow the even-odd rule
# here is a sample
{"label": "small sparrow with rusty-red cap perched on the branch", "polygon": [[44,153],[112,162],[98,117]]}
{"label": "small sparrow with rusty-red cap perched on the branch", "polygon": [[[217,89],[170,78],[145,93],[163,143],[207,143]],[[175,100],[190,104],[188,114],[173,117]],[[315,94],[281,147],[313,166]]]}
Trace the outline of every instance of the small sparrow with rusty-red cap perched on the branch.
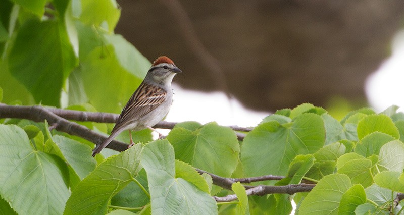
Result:
{"label": "small sparrow with rusty-red cap perched on the branch", "polygon": [[[171,81],[176,73],[182,72],[174,62],[166,56],[161,56],[153,62],[146,77],[130,97],[125,108],[119,115],[111,135],[100,145],[97,145],[92,156],[105,148],[118,134],[124,130],[142,130],[156,125],[170,110],[173,101]],[[133,144],[130,133],[130,143]]]}

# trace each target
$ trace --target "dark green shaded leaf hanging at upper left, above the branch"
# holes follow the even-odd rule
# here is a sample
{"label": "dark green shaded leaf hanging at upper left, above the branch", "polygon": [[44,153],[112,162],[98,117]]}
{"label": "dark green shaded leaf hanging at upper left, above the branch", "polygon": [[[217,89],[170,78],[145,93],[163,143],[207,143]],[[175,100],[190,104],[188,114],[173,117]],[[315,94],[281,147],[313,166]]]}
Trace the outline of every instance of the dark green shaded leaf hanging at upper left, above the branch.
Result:
{"label": "dark green shaded leaf hanging at upper left, above the branch", "polygon": [[63,26],[56,21],[30,19],[20,27],[8,63],[10,73],[36,102],[60,106],[61,89],[76,65],[76,57]]}

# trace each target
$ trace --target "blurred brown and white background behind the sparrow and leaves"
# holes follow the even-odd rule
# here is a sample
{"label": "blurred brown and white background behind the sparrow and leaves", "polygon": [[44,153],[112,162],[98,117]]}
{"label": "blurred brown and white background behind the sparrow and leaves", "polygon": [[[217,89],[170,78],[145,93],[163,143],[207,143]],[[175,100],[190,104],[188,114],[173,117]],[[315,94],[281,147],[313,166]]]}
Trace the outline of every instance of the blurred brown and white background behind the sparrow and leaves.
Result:
{"label": "blurred brown and white background behind the sparrow and leaves", "polygon": [[[184,71],[174,79],[179,86],[170,113],[180,107],[182,116],[185,109],[200,113],[203,104],[211,116],[240,117],[240,108],[254,111],[246,118],[257,121],[310,102],[338,119],[363,106],[404,106],[402,88],[391,89],[393,80],[402,82],[403,67],[388,60],[399,52],[392,41],[399,38],[404,1],[117,2],[122,14],[115,32],[148,60],[167,55]],[[386,68],[393,76],[372,76]],[[230,109],[222,113],[218,106]]]}

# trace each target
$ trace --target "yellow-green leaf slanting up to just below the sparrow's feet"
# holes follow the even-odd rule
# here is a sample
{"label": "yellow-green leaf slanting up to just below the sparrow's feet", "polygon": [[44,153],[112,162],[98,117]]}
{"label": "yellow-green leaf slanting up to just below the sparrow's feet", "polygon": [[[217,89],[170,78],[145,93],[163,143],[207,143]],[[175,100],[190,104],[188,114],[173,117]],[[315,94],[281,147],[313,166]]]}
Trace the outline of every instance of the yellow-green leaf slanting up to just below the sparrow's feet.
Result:
{"label": "yellow-green leaf slanting up to just below the sparrow's feet", "polygon": [[73,190],[64,214],[105,214],[111,197],[139,173],[141,144],[107,158]]}

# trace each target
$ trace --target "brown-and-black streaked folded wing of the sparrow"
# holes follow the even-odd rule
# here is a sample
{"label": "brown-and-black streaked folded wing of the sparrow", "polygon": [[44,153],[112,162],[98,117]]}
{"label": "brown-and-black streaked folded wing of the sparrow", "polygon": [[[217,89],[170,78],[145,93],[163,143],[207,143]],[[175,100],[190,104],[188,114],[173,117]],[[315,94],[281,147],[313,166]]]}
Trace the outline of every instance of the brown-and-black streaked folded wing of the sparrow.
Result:
{"label": "brown-and-black streaked folded wing of the sparrow", "polygon": [[156,109],[166,100],[166,95],[167,91],[163,88],[142,82],[126,103],[112,132]]}

